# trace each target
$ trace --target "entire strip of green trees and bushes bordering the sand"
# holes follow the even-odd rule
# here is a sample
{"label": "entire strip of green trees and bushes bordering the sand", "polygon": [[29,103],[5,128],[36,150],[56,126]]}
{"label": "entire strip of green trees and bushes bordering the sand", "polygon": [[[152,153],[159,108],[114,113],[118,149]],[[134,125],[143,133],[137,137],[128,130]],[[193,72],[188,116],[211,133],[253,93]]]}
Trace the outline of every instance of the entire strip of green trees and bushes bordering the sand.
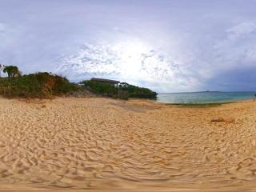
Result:
{"label": "entire strip of green trees and bushes bordering the sand", "polygon": [[[1,72],[7,74],[1,77]],[[111,98],[156,98],[157,93],[145,87],[133,86],[126,82],[113,85],[106,82],[86,80],[80,86],[57,74],[38,72],[24,74],[18,66],[0,64],[0,95],[6,98],[51,98],[54,95],[93,92]]]}

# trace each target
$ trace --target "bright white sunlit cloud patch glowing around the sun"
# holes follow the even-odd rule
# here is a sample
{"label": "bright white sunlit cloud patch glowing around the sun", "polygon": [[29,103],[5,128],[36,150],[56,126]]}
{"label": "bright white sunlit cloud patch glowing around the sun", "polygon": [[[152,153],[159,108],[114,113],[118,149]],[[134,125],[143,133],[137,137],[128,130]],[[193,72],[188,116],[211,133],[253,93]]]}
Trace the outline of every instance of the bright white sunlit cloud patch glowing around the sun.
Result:
{"label": "bright white sunlit cloud patch glowing around the sun", "polygon": [[170,55],[138,41],[86,44],[76,54],[62,58],[62,63],[56,73],[74,80],[118,78],[140,86],[146,83],[161,91],[198,86],[198,81],[184,74],[182,65],[172,61]]}

